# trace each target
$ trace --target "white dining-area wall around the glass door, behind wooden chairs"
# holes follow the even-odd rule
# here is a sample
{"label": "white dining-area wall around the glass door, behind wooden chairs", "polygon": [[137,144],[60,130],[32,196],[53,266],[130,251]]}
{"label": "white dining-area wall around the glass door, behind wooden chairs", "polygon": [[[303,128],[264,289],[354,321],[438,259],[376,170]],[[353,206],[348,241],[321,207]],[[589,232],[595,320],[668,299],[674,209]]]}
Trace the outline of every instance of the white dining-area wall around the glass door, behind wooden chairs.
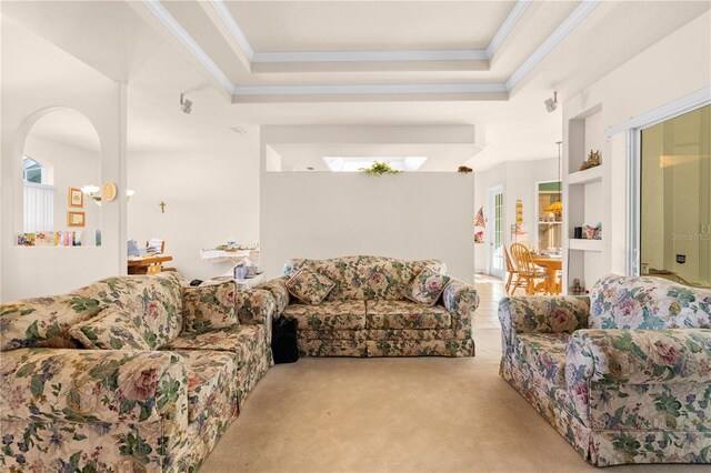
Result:
{"label": "white dining-area wall around the glass door, behind wooden chairs", "polygon": [[[555,149],[555,143],[551,143],[551,149]],[[504,213],[504,242],[507,245],[511,241],[511,225],[515,223],[515,201],[523,202],[523,222],[528,224],[529,241],[535,244],[535,208],[537,183],[542,181],[558,180],[558,158],[538,161],[508,161],[483,172],[474,173],[474,208],[484,208],[487,218],[487,230],[484,230],[484,244],[477,244],[474,250],[474,269],[478,273],[489,273],[489,252],[491,251],[491,238],[488,231],[493,223],[489,210],[489,189],[503,184],[503,213]],[[479,229],[478,229],[479,230]]]}

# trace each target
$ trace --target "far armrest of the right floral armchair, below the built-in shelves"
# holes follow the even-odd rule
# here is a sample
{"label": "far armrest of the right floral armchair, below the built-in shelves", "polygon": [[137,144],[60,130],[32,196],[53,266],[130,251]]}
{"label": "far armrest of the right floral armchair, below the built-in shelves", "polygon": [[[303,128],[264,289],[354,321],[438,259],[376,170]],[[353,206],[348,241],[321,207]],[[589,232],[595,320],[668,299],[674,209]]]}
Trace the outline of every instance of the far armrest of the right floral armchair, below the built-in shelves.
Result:
{"label": "far armrest of the right floral armchair, below the built-in shelves", "polygon": [[499,301],[504,354],[517,333],[572,333],[588,326],[590,298],[578,295],[517,296]]}

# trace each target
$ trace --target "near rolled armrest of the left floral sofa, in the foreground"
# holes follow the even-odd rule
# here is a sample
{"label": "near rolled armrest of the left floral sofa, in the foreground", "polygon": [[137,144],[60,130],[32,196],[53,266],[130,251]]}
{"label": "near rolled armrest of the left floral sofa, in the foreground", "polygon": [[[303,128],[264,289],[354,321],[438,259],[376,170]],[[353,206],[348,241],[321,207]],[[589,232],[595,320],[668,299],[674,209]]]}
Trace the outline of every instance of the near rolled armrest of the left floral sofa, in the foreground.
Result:
{"label": "near rolled armrest of the left floral sofa, in the foreground", "polygon": [[21,349],[0,362],[6,420],[188,425],[188,376],[171,352]]}

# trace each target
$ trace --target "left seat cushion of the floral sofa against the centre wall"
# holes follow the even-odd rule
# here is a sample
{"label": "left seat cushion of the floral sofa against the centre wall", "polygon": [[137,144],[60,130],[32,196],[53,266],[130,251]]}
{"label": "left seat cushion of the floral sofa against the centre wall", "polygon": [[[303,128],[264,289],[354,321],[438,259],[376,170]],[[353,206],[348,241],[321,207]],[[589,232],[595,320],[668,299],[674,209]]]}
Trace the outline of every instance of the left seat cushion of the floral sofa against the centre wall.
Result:
{"label": "left seat cushion of the floral sofa against the centre wall", "polygon": [[365,329],[365,301],[290,304],[283,316],[296,319],[299,330],[362,330]]}

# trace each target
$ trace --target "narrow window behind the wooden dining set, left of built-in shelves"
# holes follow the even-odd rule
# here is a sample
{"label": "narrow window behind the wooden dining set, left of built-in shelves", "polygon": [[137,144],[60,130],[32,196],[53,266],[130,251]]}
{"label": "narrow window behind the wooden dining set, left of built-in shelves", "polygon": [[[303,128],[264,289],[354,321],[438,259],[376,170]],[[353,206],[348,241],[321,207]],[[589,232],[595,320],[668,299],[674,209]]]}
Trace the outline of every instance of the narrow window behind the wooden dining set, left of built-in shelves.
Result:
{"label": "narrow window behind the wooden dining set, left of built-in shelves", "polygon": [[539,182],[537,201],[537,248],[541,252],[558,253],[562,246],[562,212],[551,205],[561,201],[561,182]]}

